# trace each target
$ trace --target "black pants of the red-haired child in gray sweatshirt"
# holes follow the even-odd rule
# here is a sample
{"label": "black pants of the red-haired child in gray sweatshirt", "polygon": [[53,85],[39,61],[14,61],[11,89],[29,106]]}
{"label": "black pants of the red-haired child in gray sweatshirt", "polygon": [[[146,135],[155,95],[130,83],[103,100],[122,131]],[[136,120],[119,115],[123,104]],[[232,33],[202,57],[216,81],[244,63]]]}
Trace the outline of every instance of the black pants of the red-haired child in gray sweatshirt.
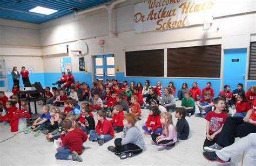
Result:
{"label": "black pants of the red-haired child in gray sweatshirt", "polygon": [[114,140],[114,154],[121,155],[122,153],[132,153],[132,154],[139,154],[142,152],[142,149],[133,143],[128,143],[126,145],[122,145],[122,139],[118,138]]}

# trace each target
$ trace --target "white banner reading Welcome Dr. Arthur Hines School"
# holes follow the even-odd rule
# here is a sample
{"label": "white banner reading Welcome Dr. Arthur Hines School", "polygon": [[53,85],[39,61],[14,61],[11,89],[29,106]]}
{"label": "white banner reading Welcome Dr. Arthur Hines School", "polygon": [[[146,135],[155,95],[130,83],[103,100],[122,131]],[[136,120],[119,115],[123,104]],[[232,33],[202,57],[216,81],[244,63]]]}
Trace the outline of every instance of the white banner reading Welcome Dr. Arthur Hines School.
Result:
{"label": "white banner reading Welcome Dr. Arthur Hines School", "polygon": [[212,22],[213,2],[209,0],[148,0],[135,5],[137,33],[161,31]]}

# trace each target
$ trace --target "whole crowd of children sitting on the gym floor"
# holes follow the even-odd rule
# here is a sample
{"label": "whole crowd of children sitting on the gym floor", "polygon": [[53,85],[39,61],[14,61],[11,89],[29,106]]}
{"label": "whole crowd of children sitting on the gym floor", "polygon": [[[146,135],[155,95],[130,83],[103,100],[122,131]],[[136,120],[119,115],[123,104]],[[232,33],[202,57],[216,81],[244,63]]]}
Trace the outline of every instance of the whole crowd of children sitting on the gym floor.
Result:
{"label": "whole crowd of children sitting on the gym floor", "polygon": [[[174,100],[176,89],[173,82],[170,82],[169,87],[164,88],[163,96],[161,96],[163,91],[161,83],[157,82],[154,88],[150,86],[148,80],[145,86],[141,83],[134,86],[134,82],[131,82],[129,86],[126,81],[123,82],[123,86],[120,86],[116,80],[112,81],[112,85],[109,82],[104,85],[96,82],[92,84],[91,90],[87,84],[83,84],[80,96],[77,95],[76,88],[81,88],[80,84],[71,85],[69,95],[66,95],[65,90],[58,90],[55,87],[52,88],[52,94],[50,88],[46,87],[45,96],[48,98],[48,104],[64,106],[64,111],[60,112],[57,107],[50,110],[49,105],[44,105],[41,117],[36,119],[25,133],[34,131],[35,136],[44,133],[46,139],[56,140],[56,143],[60,144],[57,148],[56,159],[82,162],[80,155],[85,149],[83,142],[87,140],[87,134],[90,135],[90,141],[97,141],[102,146],[114,138],[114,131],[123,132],[122,138],[114,140],[114,146],[107,147],[107,149],[124,159],[141,153],[145,146],[143,136],[136,127],[137,120],[142,119],[140,109],[150,111],[142,127],[144,134],[150,134],[152,145],[157,145],[158,150],[163,150],[174,146],[177,138],[180,140],[188,138],[190,127],[185,117],[194,114],[196,105],[198,105],[200,112],[196,115],[205,116],[207,120],[207,137],[204,146],[209,146],[214,144],[214,136],[221,131],[228,116],[227,104],[230,105],[228,102],[232,96],[234,95],[236,99],[236,116],[244,116],[244,113],[250,109],[248,97],[251,103],[253,99],[256,99],[255,86],[250,88],[248,95],[247,93],[245,95],[242,91],[242,84],[238,84],[238,89],[233,91],[233,95],[229,91],[230,87],[225,85],[225,90],[221,91],[219,97],[212,102],[214,91],[209,85],[211,86],[211,83],[207,83],[202,95],[199,93],[197,83],[193,83],[190,91],[187,90],[187,86],[183,85],[178,92],[182,107],[176,107]],[[143,97],[146,97],[145,102]],[[85,102],[79,106],[78,100],[85,100]],[[12,100],[8,101],[4,92],[0,92],[0,103],[3,105],[2,110],[6,110],[5,115],[3,111],[1,112],[0,121],[8,124],[17,107]],[[131,113],[129,113],[129,107],[131,107]],[[97,112],[97,125],[95,125],[92,111]],[[178,119],[175,127],[170,112],[175,112],[174,115]],[[112,119],[107,120],[107,117]]]}

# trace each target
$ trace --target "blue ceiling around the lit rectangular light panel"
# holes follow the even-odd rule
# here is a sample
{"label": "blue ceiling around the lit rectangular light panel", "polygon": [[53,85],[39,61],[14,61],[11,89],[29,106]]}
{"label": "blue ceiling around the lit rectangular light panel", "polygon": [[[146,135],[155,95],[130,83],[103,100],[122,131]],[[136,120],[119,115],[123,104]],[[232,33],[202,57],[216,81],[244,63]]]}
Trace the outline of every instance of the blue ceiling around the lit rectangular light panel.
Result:
{"label": "blue ceiling around the lit rectangular light panel", "polygon": [[[70,15],[70,8],[84,10],[112,0],[0,0],[0,18],[42,24],[59,17]],[[51,15],[29,12],[36,6],[58,10]]]}

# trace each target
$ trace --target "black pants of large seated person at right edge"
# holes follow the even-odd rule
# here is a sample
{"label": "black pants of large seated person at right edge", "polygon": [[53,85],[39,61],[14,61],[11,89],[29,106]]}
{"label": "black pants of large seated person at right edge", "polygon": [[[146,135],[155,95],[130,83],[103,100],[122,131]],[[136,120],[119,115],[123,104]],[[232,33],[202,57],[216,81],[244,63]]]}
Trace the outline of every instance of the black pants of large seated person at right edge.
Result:
{"label": "black pants of large seated person at right edge", "polygon": [[247,136],[250,133],[256,133],[256,126],[244,122],[242,117],[228,117],[219,133],[217,143],[227,147],[234,143],[235,138]]}

